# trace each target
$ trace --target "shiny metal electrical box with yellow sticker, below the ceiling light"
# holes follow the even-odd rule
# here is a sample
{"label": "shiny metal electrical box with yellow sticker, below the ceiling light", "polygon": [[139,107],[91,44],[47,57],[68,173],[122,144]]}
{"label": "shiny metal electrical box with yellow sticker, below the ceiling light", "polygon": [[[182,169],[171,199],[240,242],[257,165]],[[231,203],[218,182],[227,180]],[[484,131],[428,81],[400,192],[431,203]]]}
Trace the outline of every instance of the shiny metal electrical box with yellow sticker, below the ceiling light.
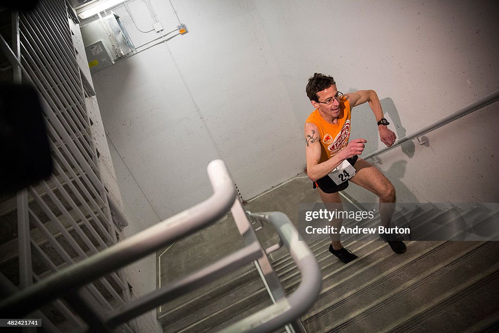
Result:
{"label": "shiny metal electrical box with yellow sticker, below the ceiling light", "polygon": [[90,72],[106,68],[136,50],[120,17],[115,13],[81,27]]}

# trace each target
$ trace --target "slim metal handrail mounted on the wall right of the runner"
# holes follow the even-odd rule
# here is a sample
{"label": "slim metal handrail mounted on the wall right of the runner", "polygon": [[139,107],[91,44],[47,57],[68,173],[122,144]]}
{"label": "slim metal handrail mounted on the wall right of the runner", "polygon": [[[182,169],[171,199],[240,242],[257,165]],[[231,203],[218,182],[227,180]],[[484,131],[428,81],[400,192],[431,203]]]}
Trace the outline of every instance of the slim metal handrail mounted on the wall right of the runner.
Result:
{"label": "slim metal handrail mounted on the wall right of the runner", "polygon": [[403,138],[398,139],[397,142],[395,142],[392,146],[383,147],[383,148],[378,149],[370,154],[362,156],[362,158],[366,160],[366,159],[371,158],[373,156],[384,153],[387,150],[390,150],[392,148],[400,146],[401,144],[403,144],[406,141],[412,140],[415,137],[418,137],[418,136],[424,135],[428,132],[431,132],[439,127],[442,127],[450,122],[453,122],[454,120],[457,120],[457,119],[459,119],[459,118],[461,118],[461,117],[463,117],[471,112],[474,112],[478,109],[481,109],[481,108],[483,108],[489,104],[492,104],[498,100],[499,100],[499,90],[496,90],[495,92],[493,92],[485,97],[482,97],[481,99],[477,100],[476,102],[471,103],[470,105],[467,105],[467,106],[461,108],[460,110],[453,112],[453,113],[449,114],[448,116],[446,116],[440,120],[437,120],[437,121],[431,123],[430,125],[422,128],[422,129],[420,129],[420,130],[418,130],[410,135],[406,135]]}

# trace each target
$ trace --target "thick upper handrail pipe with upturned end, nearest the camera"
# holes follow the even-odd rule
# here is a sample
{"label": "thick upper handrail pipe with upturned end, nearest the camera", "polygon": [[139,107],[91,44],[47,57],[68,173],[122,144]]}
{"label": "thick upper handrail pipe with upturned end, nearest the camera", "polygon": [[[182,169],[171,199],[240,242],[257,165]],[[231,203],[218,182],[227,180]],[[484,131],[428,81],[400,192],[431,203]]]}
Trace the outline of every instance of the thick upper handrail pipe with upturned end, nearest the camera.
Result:
{"label": "thick upper handrail pipe with upturned end, nearest the camera", "polygon": [[22,318],[22,315],[64,296],[70,290],[129,265],[217,221],[231,208],[237,194],[221,160],[208,165],[208,175],[214,193],[207,200],[2,300],[0,313],[5,318]]}

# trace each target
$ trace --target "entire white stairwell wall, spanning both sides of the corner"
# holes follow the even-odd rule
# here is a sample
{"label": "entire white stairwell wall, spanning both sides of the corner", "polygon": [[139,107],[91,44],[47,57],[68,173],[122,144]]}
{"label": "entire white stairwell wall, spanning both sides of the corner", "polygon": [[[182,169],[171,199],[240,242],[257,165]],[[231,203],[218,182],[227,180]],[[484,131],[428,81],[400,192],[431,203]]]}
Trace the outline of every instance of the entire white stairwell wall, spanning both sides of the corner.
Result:
{"label": "entire white stairwell wall, spanning both sides of the corner", "polygon": [[[187,34],[93,75],[125,206],[145,225],[208,197],[214,158],[245,199],[302,171],[312,111],[304,87],[315,71],[343,92],[375,89],[399,137],[499,89],[493,1],[171,2]],[[170,2],[151,3],[175,29]],[[152,28],[143,1],[129,7],[139,28]],[[157,36],[138,31],[123,6],[116,12],[135,45]],[[497,202],[495,189],[483,189],[497,184],[497,111],[429,134],[428,148],[384,154],[399,199]],[[367,152],[381,147],[368,107],[354,109],[352,124]],[[482,169],[469,176],[476,159]]]}

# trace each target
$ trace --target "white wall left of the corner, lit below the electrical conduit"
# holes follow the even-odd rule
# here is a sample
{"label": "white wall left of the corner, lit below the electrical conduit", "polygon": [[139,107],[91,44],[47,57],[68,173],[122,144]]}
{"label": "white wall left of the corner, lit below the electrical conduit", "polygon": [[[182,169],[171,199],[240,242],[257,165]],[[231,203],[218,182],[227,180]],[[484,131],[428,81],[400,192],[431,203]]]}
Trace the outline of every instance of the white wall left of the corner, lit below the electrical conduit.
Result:
{"label": "white wall left of the corner, lit below the electrical conduit", "polygon": [[[152,3],[165,30],[175,29],[170,3]],[[142,4],[129,7],[146,30]],[[302,124],[253,12],[238,1],[174,5],[189,33],[93,75],[106,129],[161,218],[212,193],[213,159],[225,160],[247,199],[304,167]],[[116,12],[135,44],[154,38],[137,32],[124,7]],[[128,195],[141,210],[142,191]]]}

